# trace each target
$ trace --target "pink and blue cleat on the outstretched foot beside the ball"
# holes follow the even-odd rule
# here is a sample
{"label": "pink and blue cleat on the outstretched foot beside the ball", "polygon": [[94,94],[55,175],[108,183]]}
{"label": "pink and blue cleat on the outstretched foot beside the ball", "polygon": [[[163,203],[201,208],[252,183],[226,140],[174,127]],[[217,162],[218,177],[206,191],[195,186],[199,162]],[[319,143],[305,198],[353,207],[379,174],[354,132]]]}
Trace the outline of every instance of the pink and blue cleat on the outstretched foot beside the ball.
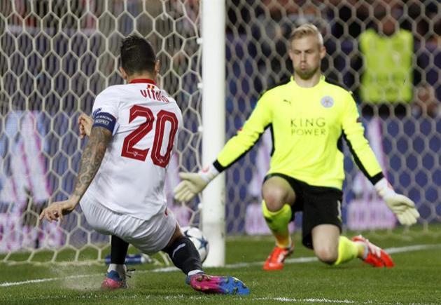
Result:
{"label": "pink and blue cleat on the outstretched foot beside the ball", "polygon": [[204,293],[242,295],[250,293],[241,280],[232,276],[209,276],[205,273],[197,273],[187,276],[186,283],[194,290]]}

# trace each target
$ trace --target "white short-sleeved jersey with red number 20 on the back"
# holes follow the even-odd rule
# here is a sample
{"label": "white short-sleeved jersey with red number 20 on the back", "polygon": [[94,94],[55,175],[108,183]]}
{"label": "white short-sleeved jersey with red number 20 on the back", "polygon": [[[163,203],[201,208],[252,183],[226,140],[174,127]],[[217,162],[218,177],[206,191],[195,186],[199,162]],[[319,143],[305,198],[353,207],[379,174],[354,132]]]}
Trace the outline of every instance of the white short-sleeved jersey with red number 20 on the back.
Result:
{"label": "white short-sleeved jersey with red number 20 on the back", "polygon": [[113,139],[85,196],[139,219],[165,212],[165,173],[182,127],[176,101],[153,81],[135,79],[106,88],[92,111],[93,126]]}

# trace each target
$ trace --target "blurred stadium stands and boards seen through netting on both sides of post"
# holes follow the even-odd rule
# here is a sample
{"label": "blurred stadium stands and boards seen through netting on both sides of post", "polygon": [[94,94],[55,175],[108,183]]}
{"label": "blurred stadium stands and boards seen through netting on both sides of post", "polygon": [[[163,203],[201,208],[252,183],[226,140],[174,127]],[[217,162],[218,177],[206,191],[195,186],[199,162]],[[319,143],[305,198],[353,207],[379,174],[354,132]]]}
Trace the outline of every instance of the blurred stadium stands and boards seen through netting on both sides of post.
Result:
{"label": "blurred stadium stands and boards seen through netting on both sides of post", "polygon": [[[286,53],[290,29],[313,22],[328,48],[323,73],[353,90],[364,122],[377,130],[372,137],[388,179],[398,192],[416,202],[424,224],[421,230],[430,233],[430,224],[441,220],[440,3],[242,0],[227,1],[227,7],[226,138],[241,127],[262,90],[290,75]],[[84,145],[78,139],[76,117],[81,111],[90,114],[94,97],[106,86],[123,83],[116,70],[118,43],[127,34],[138,32],[152,41],[162,62],[161,86],[183,110],[186,128],[180,135],[169,185],[176,184],[178,170],[200,168],[199,12],[200,3],[195,0],[1,1],[2,252],[57,248],[64,243],[79,249],[85,242],[108,240],[90,230],[80,211],[69,215],[61,228],[47,224],[33,231],[32,227],[49,198],[66,198],[73,188]],[[407,81],[414,94],[405,103],[380,107],[360,98],[364,70],[359,65],[358,39],[382,15],[392,16],[400,28],[412,32],[412,77]],[[250,207],[260,201],[265,147],[268,143],[262,140],[226,173],[228,234],[245,233],[247,215],[263,224],[256,218],[260,210]],[[356,182],[359,171],[348,149],[345,154],[348,175],[342,212],[347,223],[354,199],[379,205],[374,205],[376,199],[365,190],[367,185]],[[354,189],[356,184],[361,191]],[[171,205],[183,221],[197,224],[197,203]],[[369,226],[374,222],[366,216],[365,227],[358,229],[392,229],[395,221],[386,216],[374,226]],[[248,233],[259,232],[260,226]]]}

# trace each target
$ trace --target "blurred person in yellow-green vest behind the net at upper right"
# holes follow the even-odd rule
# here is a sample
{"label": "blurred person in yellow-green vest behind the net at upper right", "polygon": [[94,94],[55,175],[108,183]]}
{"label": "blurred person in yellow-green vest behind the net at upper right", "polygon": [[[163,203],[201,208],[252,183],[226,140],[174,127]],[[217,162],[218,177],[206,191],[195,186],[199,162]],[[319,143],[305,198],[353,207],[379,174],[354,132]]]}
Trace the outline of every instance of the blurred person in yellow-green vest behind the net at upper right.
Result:
{"label": "blurred person in yellow-green vest behind the net at upper right", "polygon": [[[411,32],[400,28],[396,14],[398,11],[390,9],[377,12],[376,29],[360,34],[363,102],[381,105],[412,101],[414,38]],[[363,110],[370,112],[370,109]],[[403,110],[405,107],[395,107],[395,114],[402,114]],[[387,111],[388,107],[379,109],[380,114]]]}

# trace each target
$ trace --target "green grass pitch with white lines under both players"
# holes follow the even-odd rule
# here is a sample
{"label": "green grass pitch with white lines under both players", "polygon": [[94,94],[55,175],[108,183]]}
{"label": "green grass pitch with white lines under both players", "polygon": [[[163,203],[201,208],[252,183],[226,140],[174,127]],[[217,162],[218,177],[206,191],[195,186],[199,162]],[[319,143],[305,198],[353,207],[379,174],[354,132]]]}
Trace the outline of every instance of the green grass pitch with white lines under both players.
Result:
{"label": "green grass pitch with white lines under both players", "polygon": [[[440,229],[440,228],[438,228]],[[283,271],[262,271],[270,237],[228,239],[227,266],[207,273],[232,275],[250,287],[246,297],[206,295],[185,285],[180,271],[135,265],[129,289],[101,292],[104,264],[0,264],[0,304],[440,304],[441,240],[421,237],[375,240],[392,249],[393,269],[374,269],[356,259],[330,267],[313,259],[295,235],[294,255]],[[424,245],[423,247],[413,247]],[[406,247],[406,248],[404,248]],[[41,281],[38,281],[41,280]],[[22,283],[28,281],[27,283]]]}

